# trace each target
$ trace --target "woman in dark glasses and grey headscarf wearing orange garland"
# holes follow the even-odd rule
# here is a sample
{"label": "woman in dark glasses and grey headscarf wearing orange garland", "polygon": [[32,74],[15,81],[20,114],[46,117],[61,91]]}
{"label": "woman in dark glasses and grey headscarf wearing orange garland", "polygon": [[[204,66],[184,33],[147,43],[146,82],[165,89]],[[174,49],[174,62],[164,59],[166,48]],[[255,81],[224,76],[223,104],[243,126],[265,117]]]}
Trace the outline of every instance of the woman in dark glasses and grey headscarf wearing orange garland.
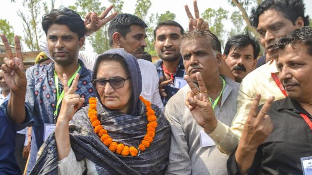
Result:
{"label": "woman in dark glasses and grey headscarf wearing orange garland", "polygon": [[68,88],[64,75],[55,134],[41,147],[34,174],[164,174],[169,124],[157,106],[139,96],[142,80],[136,58],[122,48],[100,55],[91,80],[97,96],[77,111],[84,102],[75,94],[78,79],[76,75]]}

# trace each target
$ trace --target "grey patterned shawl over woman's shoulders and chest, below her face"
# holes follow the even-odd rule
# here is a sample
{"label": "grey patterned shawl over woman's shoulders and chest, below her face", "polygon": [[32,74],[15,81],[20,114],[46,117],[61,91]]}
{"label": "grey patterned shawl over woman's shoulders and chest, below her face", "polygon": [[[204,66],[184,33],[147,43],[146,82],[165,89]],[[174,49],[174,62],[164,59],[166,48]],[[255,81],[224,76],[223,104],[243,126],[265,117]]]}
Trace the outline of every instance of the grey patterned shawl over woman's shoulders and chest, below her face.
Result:
{"label": "grey patterned shawl over woman's shoulders and chest, below her face", "polygon": [[[102,104],[97,104],[98,118],[104,129],[118,143],[138,147],[146,134],[146,109],[141,102],[139,116],[129,116],[117,111],[106,110]],[[80,109],[70,122],[70,143],[77,161],[84,158],[96,163],[99,175],[160,175],[164,174],[168,164],[170,148],[170,130],[168,121],[162,111],[155,105],[158,127],[151,146],[142,151],[139,156],[121,156],[111,152],[98,135],[93,131],[87,117],[89,106]],[[31,175],[57,174],[57,149],[54,134],[40,148],[40,155]]]}

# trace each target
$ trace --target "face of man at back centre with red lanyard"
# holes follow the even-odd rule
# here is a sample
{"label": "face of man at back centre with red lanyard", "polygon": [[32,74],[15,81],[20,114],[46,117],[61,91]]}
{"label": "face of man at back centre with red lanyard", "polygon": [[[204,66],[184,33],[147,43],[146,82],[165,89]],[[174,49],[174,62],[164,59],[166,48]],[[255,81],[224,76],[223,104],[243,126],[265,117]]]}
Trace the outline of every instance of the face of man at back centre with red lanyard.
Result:
{"label": "face of man at back centre with red lanyard", "polygon": [[155,49],[158,56],[165,61],[180,58],[181,31],[175,26],[161,26],[156,30]]}

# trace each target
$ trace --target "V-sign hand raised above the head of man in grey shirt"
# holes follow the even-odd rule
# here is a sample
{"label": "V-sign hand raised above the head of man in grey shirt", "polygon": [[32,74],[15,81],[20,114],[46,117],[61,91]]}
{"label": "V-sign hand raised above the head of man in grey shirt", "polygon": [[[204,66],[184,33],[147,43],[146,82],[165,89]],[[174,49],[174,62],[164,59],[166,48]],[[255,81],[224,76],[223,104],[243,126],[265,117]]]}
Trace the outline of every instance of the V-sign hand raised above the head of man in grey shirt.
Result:
{"label": "V-sign hand raised above the head of man in grey shirt", "polygon": [[194,5],[194,13],[195,13],[195,18],[193,17],[188,5],[184,5],[186,14],[189,18],[189,31],[193,31],[194,29],[199,29],[199,30],[209,30],[209,24],[208,22],[204,21],[203,18],[200,18],[199,15],[199,10],[197,6],[197,1],[193,1]]}

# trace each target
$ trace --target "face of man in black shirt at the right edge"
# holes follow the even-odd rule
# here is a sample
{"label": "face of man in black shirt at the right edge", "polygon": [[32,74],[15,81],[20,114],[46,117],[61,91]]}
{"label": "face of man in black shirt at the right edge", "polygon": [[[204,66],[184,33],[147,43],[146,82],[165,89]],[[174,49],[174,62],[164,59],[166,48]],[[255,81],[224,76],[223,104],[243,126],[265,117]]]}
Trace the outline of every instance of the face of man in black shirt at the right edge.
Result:
{"label": "face of man in black shirt at the right edge", "polygon": [[292,99],[304,102],[312,94],[312,55],[304,44],[288,45],[278,51],[279,79]]}

